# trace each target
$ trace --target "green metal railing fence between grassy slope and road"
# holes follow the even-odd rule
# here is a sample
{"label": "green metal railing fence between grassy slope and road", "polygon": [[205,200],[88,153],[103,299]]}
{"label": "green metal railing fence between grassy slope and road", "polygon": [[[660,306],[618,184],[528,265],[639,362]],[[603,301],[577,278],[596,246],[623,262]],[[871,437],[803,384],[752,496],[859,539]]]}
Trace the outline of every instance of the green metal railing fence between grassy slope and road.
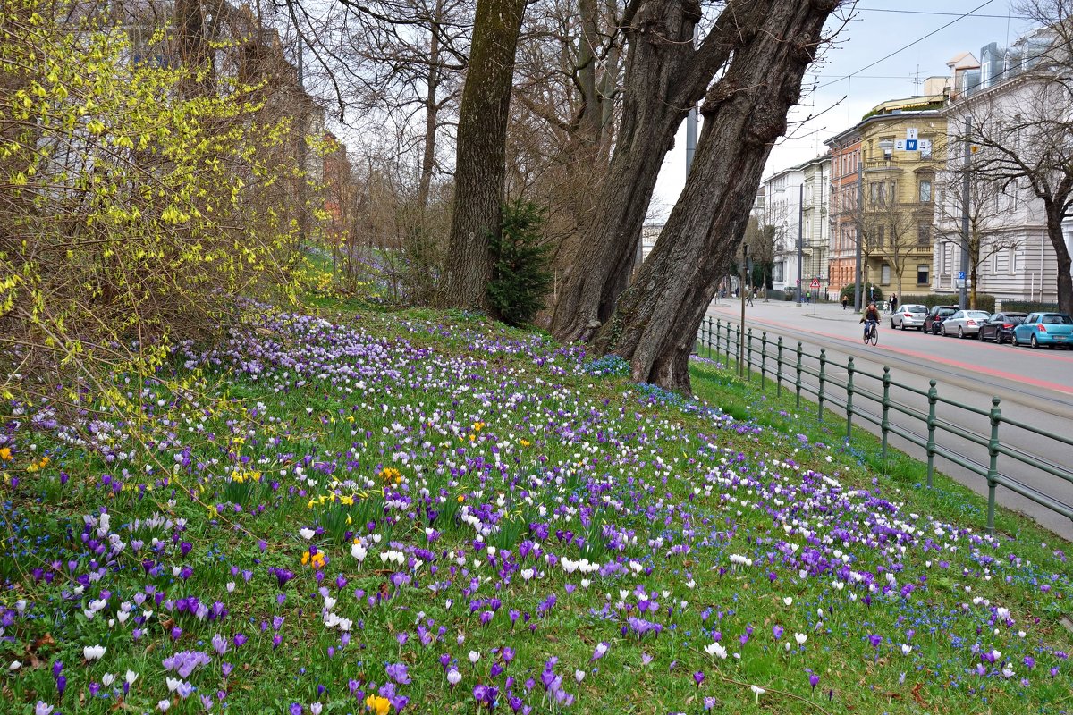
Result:
{"label": "green metal railing fence between grassy slope and road", "polygon": [[[741,339],[741,328],[738,324],[710,317],[704,318],[697,332],[701,344],[714,352],[716,359],[725,358],[726,361],[737,360]],[[843,368],[847,375],[844,379],[836,378],[828,372],[828,367],[833,363],[827,359],[825,348],[821,347],[818,354],[808,353],[799,341],[789,346],[781,336],[773,340],[767,332],[761,332],[758,337],[753,334],[752,328],[746,329],[744,340],[747,379],[751,381],[759,374],[761,389],[766,390],[768,385],[774,383],[778,394],[781,394],[783,389],[792,389],[798,407],[802,394],[811,394],[819,405],[818,416],[821,421],[827,412],[835,413],[840,420],[844,419],[847,438],[852,434],[854,419],[874,424],[882,437],[884,459],[887,456],[887,445],[892,434],[920,447],[927,459],[928,487],[931,487],[936,458],[944,459],[985,478],[988,532],[995,531],[995,493],[998,487],[1009,489],[1073,520],[1073,506],[999,471],[999,456],[1004,456],[1018,464],[1040,470],[1073,485],[1073,471],[1069,463],[1058,464],[1039,455],[1031,455],[1010,444],[1003,444],[1000,428],[1009,426],[1052,440],[1056,450],[1059,451],[1062,445],[1073,447],[1073,437],[1004,418],[1001,401],[997,397],[991,398],[989,409],[972,407],[940,396],[935,379],[929,382],[927,390],[921,390],[896,382],[891,376],[888,367],[884,367],[881,374],[858,370],[853,363],[852,356],[847,358],[844,366],[834,363],[838,368]],[[815,364],[807,363],[806,359],[814,361]],[[910,396],[915,396],[922,403],[926,401],[927,409],[906,402],[907,399],[911,399]],[[980,431],[966,429],[940,417],[938,415],[940,406],[966,413],[970,419],[979,422]],[[892,421],[892,415],[906,419]],[[909,429],[905,422],[915,423],[921,430]],[[956,435],[986,450],[987,463],[968,459],[944,446],[943,441],[947,435]]]}

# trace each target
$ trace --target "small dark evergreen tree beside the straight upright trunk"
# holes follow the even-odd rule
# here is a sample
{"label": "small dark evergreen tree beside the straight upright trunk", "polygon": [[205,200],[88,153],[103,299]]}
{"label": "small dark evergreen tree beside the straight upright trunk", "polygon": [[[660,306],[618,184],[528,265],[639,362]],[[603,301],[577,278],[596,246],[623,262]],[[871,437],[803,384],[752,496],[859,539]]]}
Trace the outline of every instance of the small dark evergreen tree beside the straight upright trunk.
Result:
{"label": "small dark evergreen tree beside the straight upright trunk", "polygon": [[503,206],[502,230],[488,236],[488,302],[508,325],[532,321],[552,287],[550,249],[541,236],[545,220],[543,207],[519,198]]}

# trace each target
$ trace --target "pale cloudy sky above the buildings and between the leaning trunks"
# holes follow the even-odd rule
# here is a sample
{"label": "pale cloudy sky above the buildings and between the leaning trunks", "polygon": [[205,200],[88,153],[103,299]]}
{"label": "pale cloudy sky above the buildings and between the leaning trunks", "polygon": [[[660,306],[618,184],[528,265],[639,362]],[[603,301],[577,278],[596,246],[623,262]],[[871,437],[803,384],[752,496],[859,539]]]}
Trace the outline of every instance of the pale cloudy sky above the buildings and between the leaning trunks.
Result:
{"label": "pale cloudy sky above the buildings and between the leaning trunks", "polygon": [[[957,55],[971,51],[979,59],[980,48],[990,42],[1008,47],[1033,27],[1016,15],[1015,4],[1015,0],[858,0],[851,21],[806,74],[805,89],[814,90],[803,93],[802,103],[791,110],[790,135],[771,150],[764,176],[826,153],[824,139],[856,124],[880,102],[920,94],[916,79],[949,75],[946,62]],[[872,64],[878,60],[882,61]],[[663,162],[650,220],[665,220],[685,182],[684,125]]]}

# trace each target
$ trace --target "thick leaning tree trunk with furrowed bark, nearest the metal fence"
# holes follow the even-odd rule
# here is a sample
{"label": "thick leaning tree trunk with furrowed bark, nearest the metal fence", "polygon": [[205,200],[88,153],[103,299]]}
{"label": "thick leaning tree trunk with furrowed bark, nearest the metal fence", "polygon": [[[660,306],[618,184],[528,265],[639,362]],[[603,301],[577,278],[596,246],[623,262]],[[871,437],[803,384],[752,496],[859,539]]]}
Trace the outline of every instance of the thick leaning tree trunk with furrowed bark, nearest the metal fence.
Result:
{"label": "thick leaning tree trunk with furrowed bark, nearest the metal fence", "polygon": [[634,379],[689,389],[704,312],[745,234],[764,163],[785,132],[838,0],[783,0],[705,98],[704,130],[681,198],[596,346],[630,360]]}

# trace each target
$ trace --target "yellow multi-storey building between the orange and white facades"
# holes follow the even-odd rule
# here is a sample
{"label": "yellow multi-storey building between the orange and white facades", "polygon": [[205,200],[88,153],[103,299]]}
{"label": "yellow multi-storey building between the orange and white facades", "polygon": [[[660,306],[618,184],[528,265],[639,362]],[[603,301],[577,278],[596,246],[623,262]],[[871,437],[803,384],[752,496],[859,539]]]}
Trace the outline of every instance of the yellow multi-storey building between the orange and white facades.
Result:
{"label": "yellow multi-storey building between the orange and white facades", "polygon": [[[865,284],[884,296],[929,291],[936,172],[945,157],[945,77],[927,80],[923,96],[877,105],[855,128],[861,137],[859,207]],[[938,91],[936,91],[938,90]]]}

